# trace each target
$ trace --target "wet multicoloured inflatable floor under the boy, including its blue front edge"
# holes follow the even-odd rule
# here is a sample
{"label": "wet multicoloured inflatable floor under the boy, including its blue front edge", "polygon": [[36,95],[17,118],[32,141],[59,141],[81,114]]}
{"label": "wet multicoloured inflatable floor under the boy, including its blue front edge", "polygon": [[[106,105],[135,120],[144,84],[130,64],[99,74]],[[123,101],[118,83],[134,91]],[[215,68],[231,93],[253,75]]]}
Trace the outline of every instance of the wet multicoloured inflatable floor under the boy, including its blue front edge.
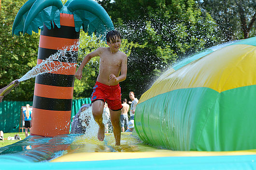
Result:
{"label": "wet multicoloured inflatable floor under the boy, including its blue front edge", "polygon": [[[121,146],[114,135],[100,142],[95,135],[59,135],[52,138],[28,136],[0,148],[3,169],[11,165],[28,169],[130,169],[206,167],[234,169],[254,167],[256,150],[204,152],[172,151],[143,144],[135,135],[122,133]],[[83,168],[84,167],[84,168]]]}

